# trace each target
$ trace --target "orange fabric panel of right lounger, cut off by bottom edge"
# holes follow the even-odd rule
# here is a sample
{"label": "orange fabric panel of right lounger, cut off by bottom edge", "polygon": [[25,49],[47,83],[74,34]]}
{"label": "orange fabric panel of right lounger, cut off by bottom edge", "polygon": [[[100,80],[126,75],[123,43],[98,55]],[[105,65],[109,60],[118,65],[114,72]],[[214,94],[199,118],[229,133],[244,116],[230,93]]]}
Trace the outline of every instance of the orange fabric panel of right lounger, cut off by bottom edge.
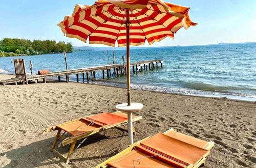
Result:
{"label": "orange fabric panel of right lounger, cut off by bottom edge", "polygon": [[170,167],[174,166],[169,165],[163,161],[151,157],[137,149],[130,151],[129,153],[114,159],[108,163],[109,167]]}

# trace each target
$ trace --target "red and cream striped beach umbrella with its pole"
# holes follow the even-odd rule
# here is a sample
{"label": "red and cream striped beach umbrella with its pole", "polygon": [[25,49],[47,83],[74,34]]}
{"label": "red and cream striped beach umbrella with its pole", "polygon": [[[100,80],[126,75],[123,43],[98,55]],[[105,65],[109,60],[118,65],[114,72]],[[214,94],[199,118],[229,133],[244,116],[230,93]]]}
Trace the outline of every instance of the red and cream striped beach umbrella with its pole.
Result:
{"label": "red and cream striped beach umbrella with its pole", "polygon": [[181,27],[196,25],[188,11],[188,7],[161,0],[99,0],[92,6],[76,5],[73,14],[58,26],[67,37],[83,42],[126,46],[127,106],[130,106],[130,45],[174,38]]}

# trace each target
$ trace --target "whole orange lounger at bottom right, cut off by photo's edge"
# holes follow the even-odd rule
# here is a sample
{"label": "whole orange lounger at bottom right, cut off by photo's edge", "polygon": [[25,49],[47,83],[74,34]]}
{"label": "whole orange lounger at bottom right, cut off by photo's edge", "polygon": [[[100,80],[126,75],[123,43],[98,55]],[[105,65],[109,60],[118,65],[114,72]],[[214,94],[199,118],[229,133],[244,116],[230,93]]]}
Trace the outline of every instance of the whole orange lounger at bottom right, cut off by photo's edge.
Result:
{"label": "whole orange lounger at bottom right, cut off by photo's edge", "polygon": [[214,142],[170,129],[130,145],[96,167],[199,167],[213,146]]}

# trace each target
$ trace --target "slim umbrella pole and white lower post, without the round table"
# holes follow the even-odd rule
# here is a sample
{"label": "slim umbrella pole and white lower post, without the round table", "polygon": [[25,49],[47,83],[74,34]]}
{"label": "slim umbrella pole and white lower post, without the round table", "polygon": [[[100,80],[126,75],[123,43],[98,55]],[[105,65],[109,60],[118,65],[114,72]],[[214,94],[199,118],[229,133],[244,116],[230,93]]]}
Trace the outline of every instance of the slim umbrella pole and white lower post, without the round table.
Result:
{"label": "slim umbrella pole and white lower post, without the round table", "polygon": [[[126,77],[127,77],[127,105],[131,105],[131,97],[130,97],[130,10],[126,9]],[[132,111],[127,112],[128,117],[128,134],[129,134],[129,143],[133,144],[133,121]]]}

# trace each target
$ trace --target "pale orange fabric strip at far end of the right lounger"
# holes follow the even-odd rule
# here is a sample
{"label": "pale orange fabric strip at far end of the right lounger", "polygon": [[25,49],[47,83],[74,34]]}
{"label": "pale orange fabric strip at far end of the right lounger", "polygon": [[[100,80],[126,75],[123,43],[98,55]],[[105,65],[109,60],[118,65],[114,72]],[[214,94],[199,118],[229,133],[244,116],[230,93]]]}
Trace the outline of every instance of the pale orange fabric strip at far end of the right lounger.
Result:
{"label": "pale orange fabric strip at far end of the right lounger", "polygon": [[190,145],[194,145],[198,148],[202,148],[202,149],[206,149],[208,146],[209,146],[209,143],[206,142],[206,141],[203,141],[201,139],[198,139],[198,138],[195,138],[195,137],[192,137],[192,136],[189,136],[189,135],[185,135],[183,133],[180,133],[180,132],[176,132],[176,131],[169,131],[167,133],[165,133],[165,135],[168,135],[172,138],[175,138],[175,139],[179,139],[180,141],[183,141],[187,144],[190,144]]}

